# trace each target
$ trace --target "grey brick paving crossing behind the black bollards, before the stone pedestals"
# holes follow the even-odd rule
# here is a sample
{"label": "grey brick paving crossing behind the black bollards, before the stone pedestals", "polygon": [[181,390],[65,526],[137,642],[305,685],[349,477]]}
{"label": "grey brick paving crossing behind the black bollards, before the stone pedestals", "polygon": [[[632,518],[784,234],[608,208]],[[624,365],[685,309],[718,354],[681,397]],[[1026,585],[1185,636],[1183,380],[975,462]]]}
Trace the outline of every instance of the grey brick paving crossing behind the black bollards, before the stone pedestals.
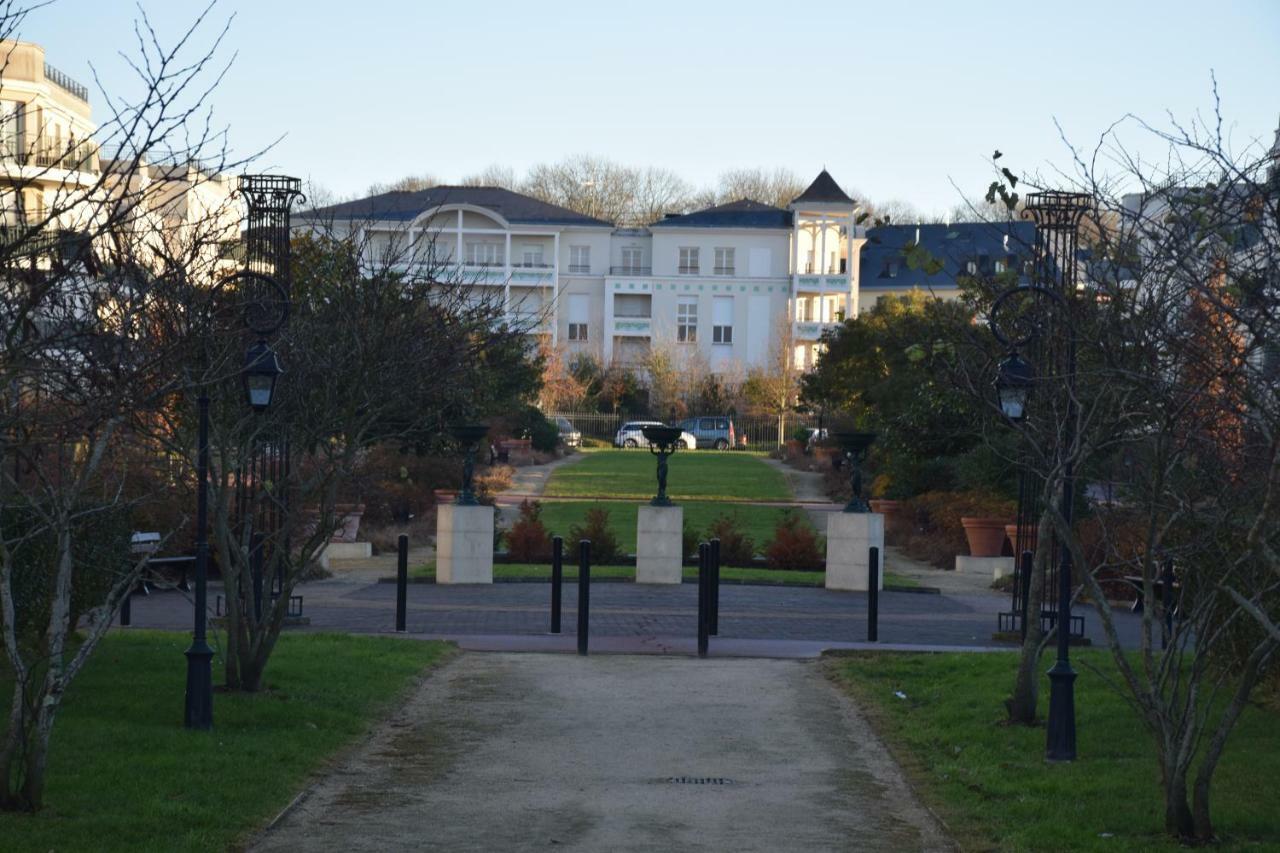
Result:
{"label": "grey brick paving crossing behind the black bollards, before the stone pedestals", "polygon": [[[214,584],[210,601],[220,593]],[[316,581],[303,584],[310,630],[361,634],[394,628],[394,584]],[[572,634],[577,584],[564,584],[562,630]],[[596,583],[591,588],[593,638],[639,638],[684,643],[696,634],[695,584],[673,587]],[[886,646],[989,647],[1002,594],[924,594],[884,592],[879,602],[879,640]],[[1087,635],[1102,640],[1097,616],[1084,610]],[[1124,613],[1121,637],[1137,644],[1137,617]],[[191,625],[191,602],[179,592],[136,597],[133,625],[182,630]],[[447,637],[539,637],[549,631],[547,583],[493,585],[410,584],[408,631]],[[815,588],[726,584],[721,592],[719,638],[850,644],[867,639],[867,594]]]}

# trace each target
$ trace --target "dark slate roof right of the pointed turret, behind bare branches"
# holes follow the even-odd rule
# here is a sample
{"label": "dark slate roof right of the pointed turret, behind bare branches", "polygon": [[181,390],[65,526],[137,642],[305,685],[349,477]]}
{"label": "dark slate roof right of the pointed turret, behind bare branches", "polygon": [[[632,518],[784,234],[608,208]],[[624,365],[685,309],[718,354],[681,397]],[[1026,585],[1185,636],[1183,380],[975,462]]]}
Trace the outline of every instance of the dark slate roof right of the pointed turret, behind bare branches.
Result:
{"label": "dark slate roof right of the pointed turret, behind bare branches", "polygon": [[[942,261],[938,273],[906,265],[904,250],[916,242]],[[1007,240],[1006,240],[1007,237]],[[965,265],[974,261],[980,274],[992,274],[995,263],[1023,269],[1036,248],[1036,225],[1012,223],[955,223],[951,225],[879,225],[867,231],[867,243],[859,260],[859,287],[863,289],[910,288],[951,289]]]}

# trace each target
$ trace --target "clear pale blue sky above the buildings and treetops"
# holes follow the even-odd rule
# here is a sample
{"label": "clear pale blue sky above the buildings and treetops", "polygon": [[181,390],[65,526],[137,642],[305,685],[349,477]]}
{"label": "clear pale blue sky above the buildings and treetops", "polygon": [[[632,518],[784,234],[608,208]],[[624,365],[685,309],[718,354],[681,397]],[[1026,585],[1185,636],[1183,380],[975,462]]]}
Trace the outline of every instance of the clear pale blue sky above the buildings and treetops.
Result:
{"label": "clear pale blue sky above the buildings and treetops", "polygon": [[[202,6],[142,5],[161,38]],[[945,210],[952,181],[983,192],[995,147],[1018,169],[1066,164],[1055,118],[1084,146],[1126,111],[1190,118],[1211,105],[1211,70],[1236,145],[1270,145],[1280,120],[1277,0],[215,6],[232,14],[216,117],[244,151],[284,136],[264,170],[342,195],[590,152],[699,184],[826,165],[846,190]],[[123,88],[134,15],[124,0],[55,0],[22,36]]]}

